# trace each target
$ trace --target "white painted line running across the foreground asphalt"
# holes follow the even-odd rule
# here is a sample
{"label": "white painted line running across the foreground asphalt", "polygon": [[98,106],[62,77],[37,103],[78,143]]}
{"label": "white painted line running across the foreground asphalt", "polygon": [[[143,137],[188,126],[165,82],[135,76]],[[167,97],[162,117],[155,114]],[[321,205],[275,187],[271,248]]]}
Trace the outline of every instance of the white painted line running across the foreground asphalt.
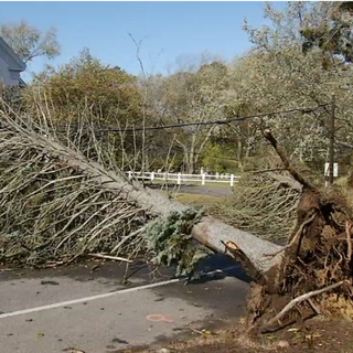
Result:
{"label": "white painted line running across the foreground asphalt", "polygon": [[[217,272],[223,272],[223,271],[236,268],[236,267],[237,266],[232,266],[232,267],[227,267],[223,270],[215,270],[215,271],[206,272],[203,276],[210,276],[210,275],[214,275]],[[67,301],[61,301],[61,302],[55,302],[53,304],[47,304],[47,306],[42,306],[42,307],[36,307],[36,308],[30,308],[30,309],[7,312],[7,313],[0,314],[0,319],[23,315],[26,313],[39,312],[39,311],[43,311],[43,310],[56,309],[60,307],[78,304],[81,302],[87,302],[87,301],[92,301],[92,300],[109,298],[113,296],[125,295],[125,293],[129,293],[129,292],[133,292],[133,291],[145,290],[145,289],[152,289],[152,288],[172,285],[172,284],[185,281],[185,280],[186,280],[186,278],[175,278],[175,279],[164,280],[161,282],[157,282],[157,284],[150,284],[150,285],[139,286],[139,287],[133,287],[133,288],[121,289],[121,290],[117,290],[117,291],[113,291],[113,292],[108,292],[108,293],[103,293],[103,295],[97,295],[97,296],[92,296],[92,297],[86,297],[86,298],[79,298],[79,299],[73,299],[73,300],[67,300]]]}

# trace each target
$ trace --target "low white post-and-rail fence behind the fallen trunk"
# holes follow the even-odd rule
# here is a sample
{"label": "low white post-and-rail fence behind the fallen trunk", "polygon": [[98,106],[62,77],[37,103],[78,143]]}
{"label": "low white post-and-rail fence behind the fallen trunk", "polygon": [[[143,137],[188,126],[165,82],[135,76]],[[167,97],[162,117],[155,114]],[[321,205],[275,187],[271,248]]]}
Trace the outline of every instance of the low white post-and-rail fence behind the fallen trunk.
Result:
{"label": "low white post-and-rail fence behind the fallen trunk", "polygon": [[202,185],[205,183],[224,183],[229,184],[231,186],[234,185],[238,181],[240,176],[234,174],[218,174],[208,175],[206,173],[202,174],[183,174],[183,173],[156,173],[156,172],[126,172],[126,174],[131,180],[132,178],[136,179],[145,179],[150,180],[153,182],[154,180],[162,180],[162,181],[172,181],[175,184],[180,185],[185,182],[201,182]]}

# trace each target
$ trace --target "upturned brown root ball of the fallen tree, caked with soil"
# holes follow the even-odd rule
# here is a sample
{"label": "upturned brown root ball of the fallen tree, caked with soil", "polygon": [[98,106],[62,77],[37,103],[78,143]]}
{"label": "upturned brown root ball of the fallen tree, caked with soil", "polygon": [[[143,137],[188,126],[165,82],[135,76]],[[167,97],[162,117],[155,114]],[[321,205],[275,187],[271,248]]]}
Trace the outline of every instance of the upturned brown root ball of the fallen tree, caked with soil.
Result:
{"label": "upturned brown root ball of the fallen tree, caked with soil", "polygon": [[351,210],[333,189],[304,189],[297,216],[281,264],[250,289],[249,324],[261,332],[318,313],[353,318]]}

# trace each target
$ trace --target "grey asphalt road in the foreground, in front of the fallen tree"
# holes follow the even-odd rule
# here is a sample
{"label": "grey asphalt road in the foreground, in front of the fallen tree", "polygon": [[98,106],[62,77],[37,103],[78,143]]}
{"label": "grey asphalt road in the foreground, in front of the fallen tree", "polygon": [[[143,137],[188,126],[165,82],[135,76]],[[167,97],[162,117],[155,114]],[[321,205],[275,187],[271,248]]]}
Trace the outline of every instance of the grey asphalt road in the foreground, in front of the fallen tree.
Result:
{"label": "grey asphalt road in the foreground, in front of the fallen tree", "polygon": [[159,347],[194,334],[192,329],[218,328],[243,314],[247,278],[222,256],[203,264],[202,270],[233,268],[186,286],[169,269],[152,280],[143,267],[124,286],[122,266],[93,270],[95,264],[0,271],[0,353]]}

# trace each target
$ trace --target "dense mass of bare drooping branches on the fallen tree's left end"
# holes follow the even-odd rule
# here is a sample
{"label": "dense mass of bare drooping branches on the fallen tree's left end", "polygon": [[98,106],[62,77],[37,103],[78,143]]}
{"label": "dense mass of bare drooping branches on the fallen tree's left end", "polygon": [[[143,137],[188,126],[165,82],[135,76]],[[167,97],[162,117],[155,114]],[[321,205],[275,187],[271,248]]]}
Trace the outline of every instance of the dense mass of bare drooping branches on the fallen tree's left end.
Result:
{"label": "dense mass of bare drooping branches on the fallen tree's left end", "polygon": [[49,125],[1,111],[0,263],[39,267],[142,252],[139,229],[150,216],[126,190],[97,178],[93,163],[65,149]]}

